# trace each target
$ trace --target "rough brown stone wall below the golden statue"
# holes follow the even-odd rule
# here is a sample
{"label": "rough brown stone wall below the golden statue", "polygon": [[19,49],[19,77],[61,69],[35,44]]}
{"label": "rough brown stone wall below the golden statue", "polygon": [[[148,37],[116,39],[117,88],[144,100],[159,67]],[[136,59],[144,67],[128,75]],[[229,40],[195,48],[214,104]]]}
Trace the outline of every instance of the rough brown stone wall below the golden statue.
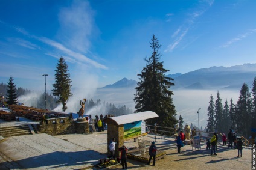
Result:
{"label": "rough brown stone wall below the golden statue", "polygon": [[89,123],[69,121],[68,117],[60,118],[50,118],[46,121],[41,121],[38,125],[38,129],[41,133],[46,133],[48,135],[63,135],[71,133],[89,133]]}

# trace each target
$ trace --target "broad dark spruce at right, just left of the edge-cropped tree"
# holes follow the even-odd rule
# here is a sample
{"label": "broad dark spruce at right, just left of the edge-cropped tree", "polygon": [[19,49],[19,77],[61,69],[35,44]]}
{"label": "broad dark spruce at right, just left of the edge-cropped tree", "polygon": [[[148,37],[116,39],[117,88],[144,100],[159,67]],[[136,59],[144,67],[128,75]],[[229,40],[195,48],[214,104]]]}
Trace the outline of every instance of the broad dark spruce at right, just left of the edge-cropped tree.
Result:
{"label": "broad dark spruce at right, just left of the edge-cropped tree", "polygon": [[245,136],[245,138],[251,135],[252,98],[246,83],[243,83],[237,105],[235,105],[235,123],[240,135]]}

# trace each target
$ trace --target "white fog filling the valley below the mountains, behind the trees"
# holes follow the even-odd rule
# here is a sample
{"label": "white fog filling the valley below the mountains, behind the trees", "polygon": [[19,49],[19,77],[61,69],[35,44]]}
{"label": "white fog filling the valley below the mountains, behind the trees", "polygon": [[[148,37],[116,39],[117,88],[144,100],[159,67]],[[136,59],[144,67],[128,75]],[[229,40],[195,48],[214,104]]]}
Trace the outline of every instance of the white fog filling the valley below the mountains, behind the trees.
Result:
{"label": "white fog filling the valley below the mountains, behind the trees", "polygon": [[[198,114],[197,111],[199,108],[199,123],[200,127],[203,128],[207,124],[208,120],[208,106],[210,101],[211,94],[214,98],[214,103],[216,101],[218,90],[173,90],[173,103],[177,111],[177,119],[179,115],[182,116],[185,124],[191,124],[198,126]],[[222,105],[225,105],[226,99],[228,100],[228,105],[230,105],[231,98],[233,103],[237,103],[238,96],[240,94],[239,90],[224,90],[220,89],[220,98],[222,99]],[[68,100],[67,106],[68,110],[66,112],[76,113],[80,108],[80,100],[84,98],[90,100],[93,99],[94,102],[97,99],[101,100],[101,103],[109,102],[114,104],[117,107],[126,106],[126,108],[132,109],[134,111],[135,102],[134,89],[75,89],[72,91],[73,96]],[[37,94],[31,93],[27,96],[19,97],[19,102],[24,103],[25,105],[32,106],[34,99],[36,99]],[[92,118],[99,113],[100,109],[103,108],[103,105],[96,106],[89,111],[86,111],[85,114],[92,115]],[[54,111],[62,111],[62,105],[57,106]],[[106,114],[103,112],[103,115]],[[157,114],[157,113],[156,113]]]}

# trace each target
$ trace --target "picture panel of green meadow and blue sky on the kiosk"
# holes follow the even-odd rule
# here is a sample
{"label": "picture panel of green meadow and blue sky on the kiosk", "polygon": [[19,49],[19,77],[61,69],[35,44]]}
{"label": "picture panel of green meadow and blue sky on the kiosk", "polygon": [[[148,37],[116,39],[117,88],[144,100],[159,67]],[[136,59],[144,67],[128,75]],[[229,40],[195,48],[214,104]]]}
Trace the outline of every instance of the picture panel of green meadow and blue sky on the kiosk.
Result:
{"label": "picture panel of green meadow and blue sky on the kiosk", "polygon": [[124,139],[141,134],[141,121],[124,124]]}

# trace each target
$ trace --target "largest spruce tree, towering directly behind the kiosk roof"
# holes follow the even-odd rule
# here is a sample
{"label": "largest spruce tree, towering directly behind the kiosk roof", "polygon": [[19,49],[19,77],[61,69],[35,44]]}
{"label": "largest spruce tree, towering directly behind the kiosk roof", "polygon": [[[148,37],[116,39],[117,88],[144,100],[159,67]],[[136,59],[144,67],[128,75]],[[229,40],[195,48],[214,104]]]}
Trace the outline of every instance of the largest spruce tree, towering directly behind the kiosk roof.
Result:
{"label": "largest spruce tree, towering directly behind the kiosk roof", "polygon": [[157,123],[159,126],[173,127],[177,124],[176,109],[173,104],[173,92],[170,87],[174,85],[173,79],[165,76],[169,70],[164,69],[163,62],[160,62],[160,53],[158,49],[161,47],[158,39],[153,35],[152,56],[145,58],[146,67],[143,68],[139,76],[135,94],[135,112],[153,111],[159,117],[152,118],[147,121],[149,124]]}

